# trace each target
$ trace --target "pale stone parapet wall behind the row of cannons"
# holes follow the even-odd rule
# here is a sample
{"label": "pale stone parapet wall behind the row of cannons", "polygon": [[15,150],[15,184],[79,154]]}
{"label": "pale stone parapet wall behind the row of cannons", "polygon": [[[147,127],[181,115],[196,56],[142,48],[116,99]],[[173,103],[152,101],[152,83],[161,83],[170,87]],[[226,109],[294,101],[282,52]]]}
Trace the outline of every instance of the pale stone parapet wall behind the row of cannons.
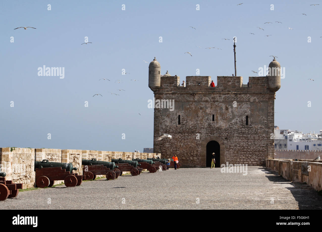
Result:
{"label": "pale stone parapet wall behind the row of cannons", "polygon": [[[12,151],[11,151],[12,149]],[[93,150],[73,150],[73,149],[45,149],[45,148],[0,148],[0,172],[5,172],[6,180],[12,180],[13,183],[22,183],[23,188],[34,187],[35,171],[34,162],[48,159],[49,162],[72,163],[77,167],[74,173],[82,174],[82,159],[95,158],[100,161],[110,162],[111,159],[132,158],[152,158],[161,157],[160,153],[139,153],[139,152],[121,152],[121,151],[93,151]],[[59,181],[62,182],[62,181]],[[55,184],[57,184],[55,182]]]}

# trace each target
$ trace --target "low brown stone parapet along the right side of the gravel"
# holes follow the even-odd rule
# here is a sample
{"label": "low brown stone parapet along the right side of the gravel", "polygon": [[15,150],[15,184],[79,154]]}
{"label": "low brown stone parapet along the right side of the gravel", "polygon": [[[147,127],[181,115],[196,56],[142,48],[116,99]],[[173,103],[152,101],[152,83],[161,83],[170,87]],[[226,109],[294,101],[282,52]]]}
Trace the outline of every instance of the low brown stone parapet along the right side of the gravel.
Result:
{"label": "low brown stone parapet along the right side of the gravel", "polygon": [[292,182],[305,182],[317,191],[322,190],[322,161],[266,159],[266,168]]}

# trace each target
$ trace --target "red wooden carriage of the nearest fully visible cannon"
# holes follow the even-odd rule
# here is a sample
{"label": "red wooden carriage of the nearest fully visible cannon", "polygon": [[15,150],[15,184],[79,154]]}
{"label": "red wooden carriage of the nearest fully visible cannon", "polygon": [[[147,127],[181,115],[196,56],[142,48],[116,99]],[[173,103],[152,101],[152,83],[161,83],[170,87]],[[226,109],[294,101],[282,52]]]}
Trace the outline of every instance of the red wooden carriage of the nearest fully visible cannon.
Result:
{"label": "red wooden carriage of the nearest fully visible cannon", "polygon": [[70,173],[62,167],[44,167],[36,168],[36,187],[52,187],[55,180],[63,180],[66,187],[75,187],[81,185],[84,175]]}

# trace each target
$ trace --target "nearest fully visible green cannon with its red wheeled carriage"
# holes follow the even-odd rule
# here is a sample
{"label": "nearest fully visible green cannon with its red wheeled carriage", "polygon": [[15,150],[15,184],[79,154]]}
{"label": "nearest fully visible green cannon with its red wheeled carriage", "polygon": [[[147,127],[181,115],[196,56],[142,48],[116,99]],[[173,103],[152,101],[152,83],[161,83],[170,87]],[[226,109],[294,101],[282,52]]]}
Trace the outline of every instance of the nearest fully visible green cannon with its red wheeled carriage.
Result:
{"label": "nearest fully visible green cannon with its red wheeled carriage", "polygon": [[35,161],[35,187],[52,187],[55,180],[63,180],[66,187],[79,186],[85,176],[73,173],[73,170],[76,171],[77,167],[72,163],[49,162],[47,159]]}

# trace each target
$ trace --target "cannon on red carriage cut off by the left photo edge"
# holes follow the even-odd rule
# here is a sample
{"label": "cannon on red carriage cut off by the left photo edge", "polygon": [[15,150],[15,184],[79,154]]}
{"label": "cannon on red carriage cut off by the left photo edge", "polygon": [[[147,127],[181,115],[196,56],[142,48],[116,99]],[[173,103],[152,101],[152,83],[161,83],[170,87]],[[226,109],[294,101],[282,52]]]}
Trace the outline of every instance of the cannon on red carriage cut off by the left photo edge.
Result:
{"label": "cannon on red carriage cut off by the left photo edge", "polygon": [[5,180],[5,172],[0,172],[0,201],[17,197],[22,184],[14,184],[11,180]]}

